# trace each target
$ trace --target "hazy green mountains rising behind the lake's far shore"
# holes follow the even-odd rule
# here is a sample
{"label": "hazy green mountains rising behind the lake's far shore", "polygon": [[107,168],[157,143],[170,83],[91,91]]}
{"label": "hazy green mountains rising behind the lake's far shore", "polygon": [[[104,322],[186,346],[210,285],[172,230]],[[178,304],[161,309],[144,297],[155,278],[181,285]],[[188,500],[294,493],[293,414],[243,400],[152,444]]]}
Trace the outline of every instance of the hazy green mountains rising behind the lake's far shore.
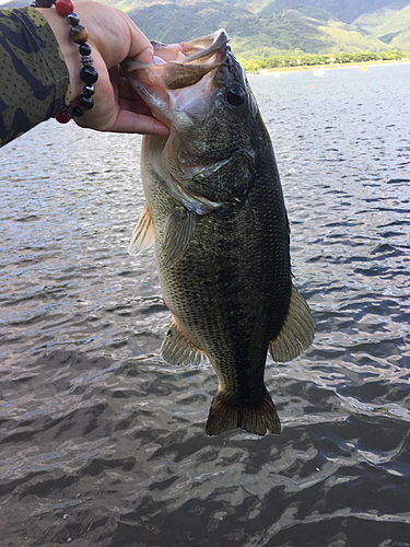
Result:
{"label": "hazy green mountains rising behind the lake's far shore", "polygon": [[243,59],[295,50],[410,50],[410,0],[99,1],[126,11],[150,39],[168,44],[223,27]]}

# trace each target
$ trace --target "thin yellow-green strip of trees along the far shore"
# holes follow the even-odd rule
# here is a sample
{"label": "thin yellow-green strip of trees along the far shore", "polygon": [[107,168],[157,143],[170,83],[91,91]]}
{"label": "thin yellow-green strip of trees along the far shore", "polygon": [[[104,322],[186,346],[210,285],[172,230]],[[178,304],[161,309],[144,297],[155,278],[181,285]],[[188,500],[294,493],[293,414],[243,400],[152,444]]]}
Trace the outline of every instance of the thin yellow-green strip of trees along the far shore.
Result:
{"label": "thin yellow-green strip of trees along the far shore", "polygon": [[399,60],[409,58],[410,51],[399,51],[397,49],[390,51],[382,51],[373,54],[372,51],[360,51],[355,54],[330,54],[330,55],[313,55],[295,51],[290,55],[270,55],[269,57],[244,60],[239,59],[246,72],[259,72],[272,68],[284,67],[312,67],[317,65],[343,65],[347,62],[367,62],[378,60]]}

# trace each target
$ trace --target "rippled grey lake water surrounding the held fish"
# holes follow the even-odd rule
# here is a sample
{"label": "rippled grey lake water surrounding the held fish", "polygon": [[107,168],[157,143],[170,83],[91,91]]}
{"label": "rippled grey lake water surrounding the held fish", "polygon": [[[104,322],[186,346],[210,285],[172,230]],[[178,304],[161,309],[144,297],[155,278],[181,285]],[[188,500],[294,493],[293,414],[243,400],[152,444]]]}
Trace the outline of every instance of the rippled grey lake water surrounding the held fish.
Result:
{"label": "rippled grey lake water surrounding the held fish", "polygon": [[213,370],[160,360],[140,137],[47,121],[0,150],[2,547],[410,545],[410,66],[250,82],[317,324],[282,434],[207,437]]}

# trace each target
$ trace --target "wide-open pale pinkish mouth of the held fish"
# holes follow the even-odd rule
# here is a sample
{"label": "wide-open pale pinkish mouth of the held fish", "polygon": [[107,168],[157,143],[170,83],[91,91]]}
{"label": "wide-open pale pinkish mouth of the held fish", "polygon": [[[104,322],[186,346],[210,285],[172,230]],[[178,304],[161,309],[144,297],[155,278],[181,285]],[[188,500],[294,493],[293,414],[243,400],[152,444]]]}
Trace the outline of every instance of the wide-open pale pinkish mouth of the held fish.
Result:
{"label": "wide-open pale pinkish mouth of the held fish", "polygon": [[[180,44],[152,42],[153,63],[127,58],[121,67],[154,116],[171,127],[173,113],[184,109],[181,104],[209,97],[214,75],[230,49],[229,39],[226,32],[220,28]],[[196,85],[194,94],[192,85]]]}

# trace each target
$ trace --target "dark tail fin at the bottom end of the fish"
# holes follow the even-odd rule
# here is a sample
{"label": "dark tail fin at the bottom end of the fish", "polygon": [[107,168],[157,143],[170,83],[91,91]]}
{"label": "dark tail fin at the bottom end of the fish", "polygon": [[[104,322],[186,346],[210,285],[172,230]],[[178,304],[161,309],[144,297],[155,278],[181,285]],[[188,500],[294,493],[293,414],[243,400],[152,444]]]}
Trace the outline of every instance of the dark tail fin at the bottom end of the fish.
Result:
{"label": "dark tail fin at the bottom end of the fish", "polygon": [[267,431],[280,434],[281,422],[268,392],[258,405],[251,407],[229,405],[223,401],[222,393],[213,397],[206,432],[209,435],[219,435],[223,431],[236,428],[260,437],[263,437]]}

